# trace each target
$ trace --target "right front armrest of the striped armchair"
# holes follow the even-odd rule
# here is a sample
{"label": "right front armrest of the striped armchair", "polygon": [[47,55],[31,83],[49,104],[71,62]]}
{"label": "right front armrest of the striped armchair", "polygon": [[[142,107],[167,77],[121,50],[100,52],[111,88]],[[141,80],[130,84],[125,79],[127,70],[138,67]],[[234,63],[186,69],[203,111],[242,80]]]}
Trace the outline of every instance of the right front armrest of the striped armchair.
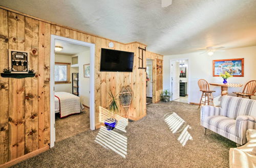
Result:
{"label": "right front armrest of the striped armchair", "polygon": [[251,117],[251,116],[237,117],[235,135],[243,139],[243,144],[246,143],[246,131],[248,129],[255,129],[255,125],[256,125],[256,118],[254,117]]}

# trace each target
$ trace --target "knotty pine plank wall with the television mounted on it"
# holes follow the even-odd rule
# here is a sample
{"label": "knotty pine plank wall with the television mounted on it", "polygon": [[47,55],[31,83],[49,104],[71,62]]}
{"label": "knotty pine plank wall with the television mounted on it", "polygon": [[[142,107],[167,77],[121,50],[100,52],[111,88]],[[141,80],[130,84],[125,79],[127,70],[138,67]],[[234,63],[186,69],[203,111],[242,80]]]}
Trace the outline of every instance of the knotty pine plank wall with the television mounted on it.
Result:
{"label": "knotty pine plank wall with the television mounted on it", "polygon": [[[145,45],[112,41],[112,49],[135,53],[133,72],[99,72],[100,50],[109,48],[111,40],[6,8],[0,9],[0,71],[8,67],[8,49],[18,49],[30,51],[30,69],[36,73],[33,78],[0,77],[0,164],[44,148],[50,143],[51,35],[95,44],[96,126],[99,125],[99,105],[109,105],[108,92],[118,94],[121,87],[126,85],[130,85],[134,92],[128,117],[139,120],[146,115],[146,73],[138,69],[138,47],[144,48]],[[162,55],[147,53],[150,53],[148,57],[152,59],[163,59]],[[155,82],[155,87],[157,85],[162,83]],[[154,93],[155,102],[159,99],[158,94],[158,91]],[[124,115],[123,109],[120,114]]]}

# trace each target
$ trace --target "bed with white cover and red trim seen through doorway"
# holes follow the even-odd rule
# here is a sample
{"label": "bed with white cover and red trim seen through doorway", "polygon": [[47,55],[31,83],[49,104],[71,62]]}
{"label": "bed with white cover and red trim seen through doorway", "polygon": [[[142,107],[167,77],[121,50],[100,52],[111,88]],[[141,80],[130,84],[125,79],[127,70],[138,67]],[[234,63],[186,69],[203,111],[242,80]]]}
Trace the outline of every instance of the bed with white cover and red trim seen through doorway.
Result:
{"label": "bed with white cover and red trim seen through doorway", "polygon": [[80,113],[84,108],[78,96],[67,92],[55,92],[54,101],[55,113],[59,113],[60,118]]}

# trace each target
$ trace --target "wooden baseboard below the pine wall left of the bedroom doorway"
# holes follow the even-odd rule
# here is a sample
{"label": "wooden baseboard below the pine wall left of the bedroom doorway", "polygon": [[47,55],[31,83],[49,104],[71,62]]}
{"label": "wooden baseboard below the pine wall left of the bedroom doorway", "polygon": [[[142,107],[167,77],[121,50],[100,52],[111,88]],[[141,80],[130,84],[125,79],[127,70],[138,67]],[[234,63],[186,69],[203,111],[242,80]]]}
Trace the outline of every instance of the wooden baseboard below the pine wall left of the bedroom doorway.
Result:
{"label": "wooden baseboard below the pine wall left of the bedroom doorway", "polygon": [[11,161],[8,161],[8,162],[6,162],[6,163],[4,163],[4,164],[1,164],[0,167],[1,167],[1,168],[10,167],[10,166],[12,166],[12,165],[14,165],[14,164],[16,164],[16,163],[18,163],[18,162],[20,162],[20,161],[26,160],[26,159],[31,158],[31,157],[33,157],[33,156],[36,156],[36,155],[38,155],[38,154],[40,154],[40,153],[42,153],[42,152],[45,152],[45,151],[47,151],[48,149],[49,149],[49,146],[46,146],[46,147],[41,148],[41,149],[38,149],[38,150],[36,150],[36,151],[32,151],[32,152],[30,152],[30,153],[28,153],[28,154],[26,154],[26,155],[20,156],[19,158],[16,158],[16,159],[13,159],[13,160],[11,160]]}

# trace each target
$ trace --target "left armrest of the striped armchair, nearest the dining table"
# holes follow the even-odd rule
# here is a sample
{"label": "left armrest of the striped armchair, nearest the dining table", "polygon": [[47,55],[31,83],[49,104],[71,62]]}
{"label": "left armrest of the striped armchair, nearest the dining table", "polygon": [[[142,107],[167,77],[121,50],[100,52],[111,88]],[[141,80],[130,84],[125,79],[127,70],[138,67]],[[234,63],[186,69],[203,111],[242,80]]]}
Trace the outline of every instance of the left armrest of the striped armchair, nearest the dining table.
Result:
{"label": "left armrest of the striped armchair, nearest the dining table", "polygon": [[212,105],[204,105],[201,107],[201,123],[205,121],[209,116],[220,116],[221,107]]}

